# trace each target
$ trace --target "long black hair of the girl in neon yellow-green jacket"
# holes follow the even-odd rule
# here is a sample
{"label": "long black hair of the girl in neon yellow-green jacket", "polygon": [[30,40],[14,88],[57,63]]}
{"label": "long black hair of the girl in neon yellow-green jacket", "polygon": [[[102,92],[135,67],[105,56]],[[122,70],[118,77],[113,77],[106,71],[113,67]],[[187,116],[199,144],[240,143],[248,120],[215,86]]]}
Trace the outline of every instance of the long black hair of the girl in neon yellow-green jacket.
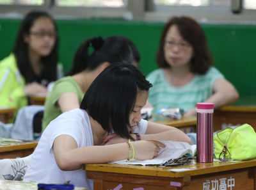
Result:
{"label": "long black hair of the girl in neon yellow-green jacket", "polygon": [[[24,42],[24,36],[29,35],[31,32],[30,29],[33,26],[34,22],[41,18],[47,17],[52,20],[54,24],[55,31],[57,31],[57,26],[52,19],[51,15],[47,12],[42,11],[32,11],[29,12],[26,17],[22,20],[20,24],[20,28],[17,34],[17,38],[15,41],[15,46],[13,47],[13,53],[15,58],[17,59],[17,66],[19,68],[20,73],[24,76],[26,83],[31,83],[33,81],[37,81],[35,72],[31,66],[31,61],[29,60],[28,55],[28,44]],[[44,79],[47,81],[55,81],[56,73],[57,73],[57,64],[58,64],[58,35],[56,36],[56,41],[51,53],[48,56],[42,56],[41,60],[44,63],[44,70],[42,71],[42,75],[44,75]]]}

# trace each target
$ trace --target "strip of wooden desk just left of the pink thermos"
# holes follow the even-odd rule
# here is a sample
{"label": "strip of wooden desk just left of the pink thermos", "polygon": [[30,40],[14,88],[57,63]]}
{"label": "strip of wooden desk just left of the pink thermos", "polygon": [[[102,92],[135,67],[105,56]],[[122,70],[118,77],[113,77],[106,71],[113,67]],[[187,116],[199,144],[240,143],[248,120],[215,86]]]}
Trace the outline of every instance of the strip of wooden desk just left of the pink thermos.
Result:
{"label": "strip of wooden desk just left of the pink thermos", "polygon": [[172,127],[177,127],[181,131],[184,131],[185,133],[196,132],[196,116],[183,117],[180,120],[170,119],[170,120],[159,120],[154,122],[161,123],[164,125],[169,125]]}

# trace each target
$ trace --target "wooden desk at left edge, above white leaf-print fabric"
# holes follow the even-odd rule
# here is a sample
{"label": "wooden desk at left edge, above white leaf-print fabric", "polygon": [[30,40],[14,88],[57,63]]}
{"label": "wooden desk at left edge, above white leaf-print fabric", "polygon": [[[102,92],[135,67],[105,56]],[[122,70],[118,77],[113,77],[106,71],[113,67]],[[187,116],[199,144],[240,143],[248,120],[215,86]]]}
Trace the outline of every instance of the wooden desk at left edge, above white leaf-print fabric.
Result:
{"label": "wooden desk at left edge, above white leaf-print fabric", "polygon": [[34,152],[38,141],[0,138],[0,159],[26,157]]}

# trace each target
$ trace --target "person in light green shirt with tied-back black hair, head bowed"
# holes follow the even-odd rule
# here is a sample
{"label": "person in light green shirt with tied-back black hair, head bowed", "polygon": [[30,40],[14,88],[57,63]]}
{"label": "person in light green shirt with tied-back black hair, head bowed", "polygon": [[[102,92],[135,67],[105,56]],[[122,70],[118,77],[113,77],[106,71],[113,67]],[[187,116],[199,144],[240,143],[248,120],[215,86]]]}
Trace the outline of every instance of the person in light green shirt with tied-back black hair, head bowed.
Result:
{"label": "person in light green shirt with tied-back black hair, head bowed", "polygon": [[79,108],[92,81],[106,67],[121,61],[138,65],[140,53],[124,36],[88,38],[74,56],[73,66],[67,77],[54,84],[45,100],[42,131],[57,116],[70,109]]}

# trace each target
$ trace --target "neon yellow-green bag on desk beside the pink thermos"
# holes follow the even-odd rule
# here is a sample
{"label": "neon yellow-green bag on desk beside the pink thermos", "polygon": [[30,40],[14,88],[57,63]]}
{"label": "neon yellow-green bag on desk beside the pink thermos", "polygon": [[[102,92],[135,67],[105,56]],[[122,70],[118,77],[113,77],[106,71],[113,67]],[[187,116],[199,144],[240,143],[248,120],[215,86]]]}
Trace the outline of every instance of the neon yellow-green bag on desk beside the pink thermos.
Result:
{"label": "neon yellow-green bag on desk beside the pink thermos", "polygon": [[256,157],[256,133],[251,125],[243,124],[235,129],[228,127],[217,132],[213,141],[215,157],[221,161],[242,161]]}

